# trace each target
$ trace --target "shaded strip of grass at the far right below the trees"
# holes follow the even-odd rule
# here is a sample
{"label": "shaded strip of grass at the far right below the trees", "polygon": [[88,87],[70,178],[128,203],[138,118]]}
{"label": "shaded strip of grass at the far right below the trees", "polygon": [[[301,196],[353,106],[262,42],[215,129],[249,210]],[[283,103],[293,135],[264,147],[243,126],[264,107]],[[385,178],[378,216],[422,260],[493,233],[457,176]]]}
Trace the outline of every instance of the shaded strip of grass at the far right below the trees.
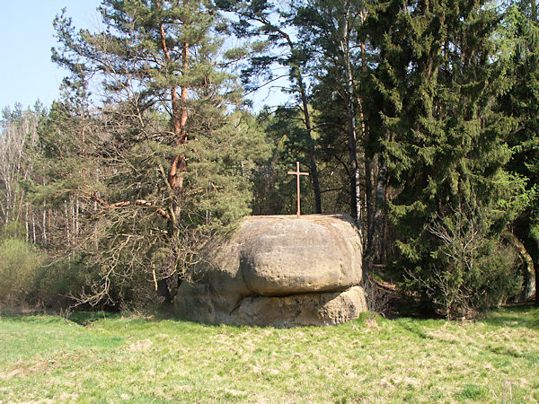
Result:
{"label": "shaded strip of grass at the far right below the trees", "polygon": [[509,306],[490,312],[478,321],[493,327],[539,330],[539,307],[531,303]]}

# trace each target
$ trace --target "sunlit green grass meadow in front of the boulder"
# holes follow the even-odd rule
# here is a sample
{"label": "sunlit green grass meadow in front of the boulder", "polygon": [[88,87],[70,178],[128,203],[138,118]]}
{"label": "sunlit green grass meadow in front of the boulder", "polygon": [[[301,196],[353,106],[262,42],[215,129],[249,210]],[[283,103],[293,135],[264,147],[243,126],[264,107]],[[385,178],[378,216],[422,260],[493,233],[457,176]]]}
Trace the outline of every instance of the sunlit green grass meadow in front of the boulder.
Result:
{"label": "sunlit green grass meadow in front of the boulder", "polygon": [[539,310],[474,322],[367,313],[336,327],[103,313],[0,317],[0,402],[531,402]]}

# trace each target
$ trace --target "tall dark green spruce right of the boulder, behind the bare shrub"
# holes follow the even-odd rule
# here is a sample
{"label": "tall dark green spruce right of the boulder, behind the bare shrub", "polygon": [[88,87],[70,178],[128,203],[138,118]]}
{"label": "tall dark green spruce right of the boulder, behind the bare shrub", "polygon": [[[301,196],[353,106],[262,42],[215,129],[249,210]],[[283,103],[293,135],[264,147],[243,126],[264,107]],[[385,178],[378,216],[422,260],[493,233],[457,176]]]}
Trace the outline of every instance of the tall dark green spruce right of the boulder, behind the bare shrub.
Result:
{"label": "tall dark green spruce right of the boulder, behind the bare shrub", "polygon": [[[512,200],[503,168],[514,120],[493,110],[510,86],[495,57],[499,13],[486,2],[399,0],[372,23],[389,135],[384,161],[399,191],[389,206],[400,251],[394,267],[406,290],[430,308],[439,307],[449,286],[455,296],[468,296],[446,307],[448,315],[461,309],[466,315],[495,287],[508,293],[512,286],[504,285],[508,268],[498,247],[487,242],[508,223],[502,206]],[[462,242],[475,242],[473,251],[456,254]]]}

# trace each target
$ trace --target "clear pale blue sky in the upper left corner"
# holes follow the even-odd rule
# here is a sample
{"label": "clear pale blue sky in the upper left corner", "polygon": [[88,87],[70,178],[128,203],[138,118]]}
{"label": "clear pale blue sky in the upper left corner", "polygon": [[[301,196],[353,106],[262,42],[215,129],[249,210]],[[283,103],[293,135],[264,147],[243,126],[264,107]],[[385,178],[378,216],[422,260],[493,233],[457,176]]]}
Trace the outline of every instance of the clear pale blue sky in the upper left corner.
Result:
{"label": "clear pale blue sky in the upper left corner", "polygon": [[3,1],[0,9],[0,110],[21,102],[49,106],[66,73],[50,61],[52,20],[63,7],[79,28],[94,28],[100,0]]}

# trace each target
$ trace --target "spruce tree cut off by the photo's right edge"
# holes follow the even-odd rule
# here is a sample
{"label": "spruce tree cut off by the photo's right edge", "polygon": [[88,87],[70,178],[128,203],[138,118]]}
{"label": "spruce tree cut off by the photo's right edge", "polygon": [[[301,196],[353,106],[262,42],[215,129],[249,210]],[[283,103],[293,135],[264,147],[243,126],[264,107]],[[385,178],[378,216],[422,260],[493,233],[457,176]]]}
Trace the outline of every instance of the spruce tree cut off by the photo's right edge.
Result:
{"label": "spruce tree cut off by the photo's right edge", "polygon": [[[508,170],[526,179],[526,198],[517,212],[514,233],[524,242],[523,248],[534,255],[535,291],[539,287],[539,20],[537,4],[511,4],[500,29],[508,65],[511,89],[499,97],[499,109],[517,119],[517,127],[508,137],[513,154]],[[535,292],[535,304],[539,294]]]}

